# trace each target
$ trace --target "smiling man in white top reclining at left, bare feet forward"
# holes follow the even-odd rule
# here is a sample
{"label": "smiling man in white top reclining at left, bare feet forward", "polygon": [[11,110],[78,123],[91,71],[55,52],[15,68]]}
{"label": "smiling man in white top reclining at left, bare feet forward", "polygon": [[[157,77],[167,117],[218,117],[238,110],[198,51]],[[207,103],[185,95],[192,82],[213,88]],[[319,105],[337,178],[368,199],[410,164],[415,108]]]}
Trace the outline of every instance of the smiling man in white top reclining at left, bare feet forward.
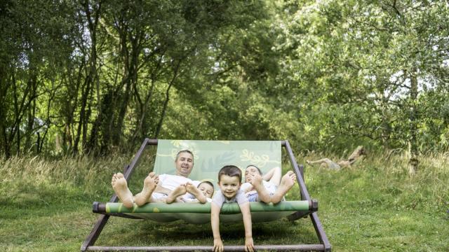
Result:
{"label": "smiling man in white top reclining at left, bare feet forward", "polygon": [[[127,208],[132,208],[134,204],[140,207],[148,202],[166,202],[168,197],[175,199],[174,195],[179,193],[179,190],[185,190],[200,203],[206,203],[206,196],[195,185],[199,181],[192,181],[188,178],[194,167],[193,153],[188,150],[177,153],[175,167],[175,175],[161,174],[158,176],[154,172],[150,172],[144,180],[142,191],[136,195],[130,192],[128,183],[120,172],[112,176],[112,188],[123,206]],[[168,203],[173,201],[170,200]]]}

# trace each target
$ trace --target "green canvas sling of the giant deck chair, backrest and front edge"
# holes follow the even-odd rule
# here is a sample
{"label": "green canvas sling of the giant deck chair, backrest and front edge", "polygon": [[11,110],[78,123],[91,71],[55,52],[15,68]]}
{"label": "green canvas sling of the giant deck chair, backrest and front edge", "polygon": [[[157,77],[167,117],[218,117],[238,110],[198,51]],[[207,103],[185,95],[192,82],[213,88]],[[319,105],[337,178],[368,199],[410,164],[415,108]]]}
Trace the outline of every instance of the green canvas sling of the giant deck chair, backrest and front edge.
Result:
{"label": "green canvas sling of the giant deck chair, backrest and front edge", "polygon": [[[242,172],[248,165],[255,165],[265,173],[281,167],[281,141],[203,141],[203,140],[158,140],[154,172],[175,174],[175,158],[179,151],[189,150],[194,154],[194,168],[189,179],[211,181],[217,190],[217,174],[225,165],[236,165]],[[242,178],[243,179],[243,178]],[[253,222],[274,221],[289,216],[295,211],[308,211],[307,201],[264,204],[250,202]],[[121,203],[107,203],[107,213],[121,213],[158,222],[182,219],[187,223],[210,222],[210,203],[150,203],[133,209]],[[221,222],[240,222],[242,215],[236,203],[223,204]]]}

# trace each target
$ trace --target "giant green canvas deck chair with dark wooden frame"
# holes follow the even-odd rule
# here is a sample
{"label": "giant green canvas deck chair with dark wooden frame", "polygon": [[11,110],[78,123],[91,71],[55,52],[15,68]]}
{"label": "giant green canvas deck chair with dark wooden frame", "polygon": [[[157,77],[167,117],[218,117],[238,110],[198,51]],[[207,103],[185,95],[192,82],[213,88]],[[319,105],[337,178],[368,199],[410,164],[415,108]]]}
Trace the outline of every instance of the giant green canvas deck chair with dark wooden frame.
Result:
{"label": "giant green canvas deck chair with dark wooden frame", "polygon": [[[282,201],[279,204],[250,202],[253,223],[274,221],[287,217],[294,221],[309,216],[314,225],[320,244],[258,245],[257,250],[276,251],[330,251],[326,233],[316,214],[318,202],[311,200],[304,184],[304,168],[298,166],[288,141],[195,141],[195,140],[156,140],[145,139],[130,165],[123,170],[128,180],[147,146],[157,146],[153,171],[156,174],[175,174],[175,157],[179,151],[194,153],[194,168],[189,179],[210,181],[217,190],[217,173],[225,165],[236,165],[245,169],[256,165],[262,172],[273,167],[281,167],[281,148],[286,148],[300,187],[298,200]],[[81,251],[212,251],[213,246],[94,246],[96,239],[107,223],[109,216],[124,218],[144,218],[152,221],[170,222],[183,220],[187,223],[202,224],[210,222],[210,203],[148,203],[142,207],[128,209],[123,207],[113,195],[109,202],[93,203],[93,212],[101,214],[93,230],[81,246]],[[242,222],[238,204],[223,204],[220,222]],[[243,251],[244,246],[225,246],[225,251]]]}

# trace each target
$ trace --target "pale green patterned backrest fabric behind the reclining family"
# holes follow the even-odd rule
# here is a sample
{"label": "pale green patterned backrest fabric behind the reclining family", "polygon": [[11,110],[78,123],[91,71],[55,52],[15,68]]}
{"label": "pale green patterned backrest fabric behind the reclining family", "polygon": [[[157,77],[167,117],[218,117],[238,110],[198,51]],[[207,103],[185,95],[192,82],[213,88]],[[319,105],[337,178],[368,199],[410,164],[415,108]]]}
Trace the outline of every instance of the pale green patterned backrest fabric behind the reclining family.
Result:
{"label": "pale green patterned backrest fabric behind the reclining family", "polygon": [[217,182],[218,171],[225,165],[236,165],[242,171],[248,165],[268,172],[281,167],[281,141],[202,141],[158,140],[154,172],[175,174],[176,154],[182,150],[194,153],[194,168],[189,179]]}

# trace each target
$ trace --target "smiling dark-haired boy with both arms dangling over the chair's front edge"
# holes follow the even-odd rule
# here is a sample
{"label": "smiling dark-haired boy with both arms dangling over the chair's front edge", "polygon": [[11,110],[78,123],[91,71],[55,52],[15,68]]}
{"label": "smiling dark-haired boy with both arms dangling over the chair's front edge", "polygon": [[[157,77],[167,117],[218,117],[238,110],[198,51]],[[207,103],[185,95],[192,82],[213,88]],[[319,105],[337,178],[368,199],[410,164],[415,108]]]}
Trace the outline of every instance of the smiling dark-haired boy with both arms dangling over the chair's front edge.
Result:
{"label": "smiling dark-haired boy with both arms dangling over the chair's front edge", "polygon": [[243,216],[245,227],[245,251],[254,251],[253,230],[251,223],[250,204],[245,193],[240,189],[241,170],[234,165],[227,165],[218,172],[218,187],[212,204],[210,204],[210,225],[213,232],[213,251],[222,252],[224,250],[223,241],[220,237],[220,210],[223,203],[237,202]]}

